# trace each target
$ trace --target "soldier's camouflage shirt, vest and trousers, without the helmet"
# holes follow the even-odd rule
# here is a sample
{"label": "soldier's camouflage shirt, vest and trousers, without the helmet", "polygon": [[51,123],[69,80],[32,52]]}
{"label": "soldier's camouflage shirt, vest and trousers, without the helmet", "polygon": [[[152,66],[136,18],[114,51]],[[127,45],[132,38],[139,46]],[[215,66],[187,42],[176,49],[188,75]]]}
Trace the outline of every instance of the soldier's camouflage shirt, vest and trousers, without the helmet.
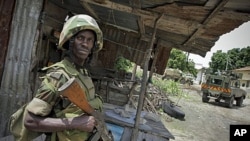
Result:
{"label": "soldier's camouflage shirt, vest and trousers, without the helmet", "polygon": [[[35,98],[27,106],[29,112],[39,116],[54,116],[57,118],[77,117],[84,114],[76,105],[62,98],[57,91],[60,86],[72,77],[75,77],[84,89],[90,105],[96,110],[101,110],[101,98],[95,94],[94,85],[86,70],[77,70],[74,64],[68,59],[64,59],[59,63],[47,67],[45,70],[47,70],[48,73],[42,77],[43,81]],[[89,133],[87,132],[66,130],[53,133],[51,140],[82,141],[88,137]]]}

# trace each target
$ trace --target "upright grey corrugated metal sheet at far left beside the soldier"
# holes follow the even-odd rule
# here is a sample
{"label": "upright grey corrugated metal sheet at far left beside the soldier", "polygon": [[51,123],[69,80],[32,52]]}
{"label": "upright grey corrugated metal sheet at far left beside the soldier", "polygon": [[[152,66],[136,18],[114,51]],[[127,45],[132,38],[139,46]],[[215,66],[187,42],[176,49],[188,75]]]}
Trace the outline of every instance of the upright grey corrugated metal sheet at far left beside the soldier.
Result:
{"label": "upright grey corrugated metal sheet at far left beside the soldier", "polygon": [[0,135],[7,133],[9,115],[32,98],[31,54],[42,4],[40,0],[16,1],[0,89]]}

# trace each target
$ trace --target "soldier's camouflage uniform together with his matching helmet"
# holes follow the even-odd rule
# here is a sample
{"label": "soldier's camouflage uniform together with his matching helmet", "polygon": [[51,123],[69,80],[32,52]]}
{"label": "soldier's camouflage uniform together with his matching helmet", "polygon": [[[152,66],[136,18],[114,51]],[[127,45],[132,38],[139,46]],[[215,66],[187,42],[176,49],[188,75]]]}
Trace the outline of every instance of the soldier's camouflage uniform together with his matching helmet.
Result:
{"label": "soldier's camouflage uniform together with his matching helmet", "polygon": [[[71,17],[64,25],[60,34],[59,49],[64,50],[64,43],[81,30],[93,30],[96,33],[93,52],[102,48],[103,37],[96,21],[88,15],[76,15]],[[76,105],[65,98],[62,98],[58,88],[67,80],[75,77],[85,91],[89,104],[96,110],[101,110],[102,100],[95,94],[95,89],[88,72],[85,69],[77,69],[70,59],[66,58],[50,67],[45,68],[47,74],[42,77],[42,83],[37,91],[35,98],[28,104],[27,110],[31,113],[43,117],[69,118],[77,117],[84,112]],[[82,141],[90,136],[88,132],[78,130],[65,130],[62,132],[53,132],[51,141]]]}

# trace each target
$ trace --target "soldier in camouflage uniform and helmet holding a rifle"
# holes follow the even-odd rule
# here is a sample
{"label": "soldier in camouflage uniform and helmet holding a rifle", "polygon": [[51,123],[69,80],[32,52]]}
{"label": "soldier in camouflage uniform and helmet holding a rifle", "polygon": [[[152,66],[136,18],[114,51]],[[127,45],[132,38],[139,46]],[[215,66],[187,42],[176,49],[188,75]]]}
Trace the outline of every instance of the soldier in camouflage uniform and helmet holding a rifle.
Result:
{"label": "soldier in camouflage uniform and helmet holding a rifle", "polygon": [[47,73],[42,77],[36,96],[27,106],[26,129],[46,133],[46,140],[88,140],[96,124],[95,118],[60,96],[58,88],[75,77],[89,104],[96,110],[102,110],[102,100],[95,94],[85,68],[92,54],[99,51],[102,45],[102,31],[92,17],[76,15],[65,23],[58,45],[65,51],[64,59],[44,68]]}

